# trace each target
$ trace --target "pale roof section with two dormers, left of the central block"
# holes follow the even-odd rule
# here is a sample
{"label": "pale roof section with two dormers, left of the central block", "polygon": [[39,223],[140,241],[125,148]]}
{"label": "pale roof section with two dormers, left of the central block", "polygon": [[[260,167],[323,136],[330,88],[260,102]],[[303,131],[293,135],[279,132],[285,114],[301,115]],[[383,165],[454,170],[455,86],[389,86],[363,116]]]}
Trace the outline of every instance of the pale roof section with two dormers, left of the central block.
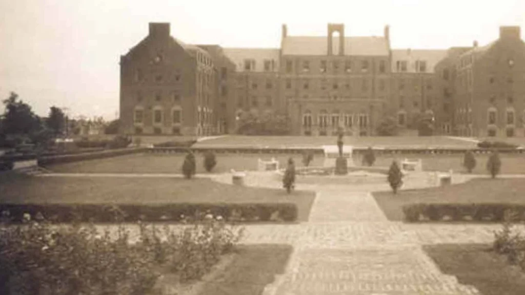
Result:
{"label": "pale roof section with two dormers, left of the central block", "polygon": [[246,59],[255,60],[255,69],[252,72],[263,72],[264,61],[274,60],[274,71],[279,70],[279,49],[277,48],[224,48],[224,54],[234,62],[237,71],[244,70]]}

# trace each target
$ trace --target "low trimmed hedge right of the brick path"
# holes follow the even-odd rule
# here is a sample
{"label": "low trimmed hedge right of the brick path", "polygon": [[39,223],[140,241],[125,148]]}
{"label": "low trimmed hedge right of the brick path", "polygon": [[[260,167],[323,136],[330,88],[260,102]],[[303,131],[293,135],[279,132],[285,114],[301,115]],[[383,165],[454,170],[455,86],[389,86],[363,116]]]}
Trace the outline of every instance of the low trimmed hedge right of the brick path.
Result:
{"label": "low trimmed hedge right of the brick path", "polygon": [[517,220],[525,221],[525,205],[521,204],[411,204],[403,206],[408,222],[462,221],[502,222],[506,214],[515,214]]}

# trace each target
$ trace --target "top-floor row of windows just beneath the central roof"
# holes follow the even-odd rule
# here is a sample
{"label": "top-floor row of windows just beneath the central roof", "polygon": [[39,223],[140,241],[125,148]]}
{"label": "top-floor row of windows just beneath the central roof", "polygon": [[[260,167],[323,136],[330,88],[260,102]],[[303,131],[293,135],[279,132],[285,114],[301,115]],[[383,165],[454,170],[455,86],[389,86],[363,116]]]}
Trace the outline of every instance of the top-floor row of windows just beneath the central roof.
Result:
{"label": "top-floor row of windows just beneath the central roof", "polygon": [[[300,72],[312,72],[311,67],[311,61],[310,60],[302,60],[296,61],[300,62]],[[356,61],[353,60],[332,60],[330,62],[331,64],[331,71],[334,73],[338,73],[340,69],[344,70],[345,73],[351,73],[353,71],[361,71],[361,72],[368,72],[370,70],[370,61],[369,60],[361,60],[361,64],[359,66],[356,66]],[[286,73],[292,73],[294,72],[293,68],[293,60],[286,60],[286,66],[285,66]],[[328,61],[327,60],[321,60],[319,65],[319,72],[326,73],[328,70]],[[379,62],[379,72],[385,73],[386,72],[386,61],[380,60]]]}

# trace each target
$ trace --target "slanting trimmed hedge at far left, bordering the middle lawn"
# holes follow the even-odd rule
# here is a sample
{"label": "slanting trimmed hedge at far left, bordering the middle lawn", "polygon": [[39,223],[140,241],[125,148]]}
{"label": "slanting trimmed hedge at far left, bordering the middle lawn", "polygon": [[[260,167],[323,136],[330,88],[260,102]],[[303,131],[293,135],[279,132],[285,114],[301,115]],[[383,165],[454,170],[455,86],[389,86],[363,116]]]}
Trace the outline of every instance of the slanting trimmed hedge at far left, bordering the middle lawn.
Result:
{"label": "slanting trimmed hedge at far left, bordering the middle lawn", "polygon": [[104,159],[107,157],[121,156],[134,153],[142,153],[146,148],[126,148],[119,150],[104,150],[100,152],[81,153],[81,154],[70,154],[70,155],[58,155],[58,156],[44,156],[38,158],[38,165],[53,165],[61,163],[70,163],[86,160]]}

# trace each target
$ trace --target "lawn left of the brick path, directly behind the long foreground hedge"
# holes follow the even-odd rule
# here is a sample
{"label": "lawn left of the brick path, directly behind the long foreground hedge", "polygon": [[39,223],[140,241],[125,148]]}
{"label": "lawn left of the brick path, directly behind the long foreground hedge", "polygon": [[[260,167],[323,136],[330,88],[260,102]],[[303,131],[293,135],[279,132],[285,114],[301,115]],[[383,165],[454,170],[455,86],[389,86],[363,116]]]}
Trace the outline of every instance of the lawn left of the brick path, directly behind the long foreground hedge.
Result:
{"label": "lawn left of the brick path, directly behind the long foreground hedge", "polygon": [[209,179],[124,177],[8,177],[0,202],[12,204],[295,203],[308,220],[315,194],[241,187]]}

